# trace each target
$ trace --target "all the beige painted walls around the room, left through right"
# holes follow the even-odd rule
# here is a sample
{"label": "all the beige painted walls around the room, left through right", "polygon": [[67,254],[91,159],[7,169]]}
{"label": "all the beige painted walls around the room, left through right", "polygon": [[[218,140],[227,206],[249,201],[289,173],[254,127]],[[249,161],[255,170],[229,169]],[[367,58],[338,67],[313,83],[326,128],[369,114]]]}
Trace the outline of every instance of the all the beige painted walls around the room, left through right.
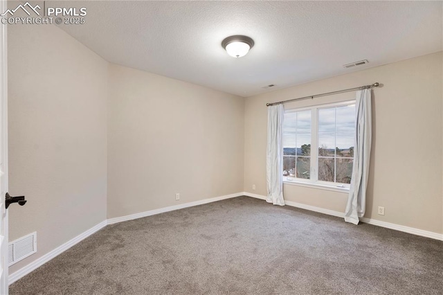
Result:
{"label": "all the beige painted walls around the room, left through right", "polygon": [[[442,53],[243,99],[109,64],[55,26],[10,26],[8,38],[9,191],[28,199],[9,209],[9,238],[37,231],[38,241],[10,273],[106,218],[243,190],[266,195],[266,102],[372,82],[384,86],[374,90],[365,216],[443,233]],[[347,197],[284,192],[334,211]]]}

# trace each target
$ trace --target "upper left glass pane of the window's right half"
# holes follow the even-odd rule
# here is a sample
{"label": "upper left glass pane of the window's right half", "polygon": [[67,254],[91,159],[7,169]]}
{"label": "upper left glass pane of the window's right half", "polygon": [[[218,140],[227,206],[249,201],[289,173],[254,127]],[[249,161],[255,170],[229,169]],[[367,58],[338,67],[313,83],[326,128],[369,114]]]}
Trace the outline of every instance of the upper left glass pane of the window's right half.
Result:
{"label": "upper left glass pane of the window's right half", "polygon": [[335,107],[318,110],[318,156],[335,155]]}

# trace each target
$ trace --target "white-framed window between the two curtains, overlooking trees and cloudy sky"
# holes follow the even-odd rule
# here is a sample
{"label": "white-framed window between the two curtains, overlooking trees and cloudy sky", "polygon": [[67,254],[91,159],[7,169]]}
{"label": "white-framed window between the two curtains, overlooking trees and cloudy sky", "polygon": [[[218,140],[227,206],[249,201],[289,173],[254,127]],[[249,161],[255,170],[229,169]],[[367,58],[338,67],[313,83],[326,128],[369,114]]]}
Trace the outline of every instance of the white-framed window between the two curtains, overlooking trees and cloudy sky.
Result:
{"label": "white-framed window between the two curtains, overlooking trees and cloudy sky", "polygon": [[349,187],[354,134],[354,101],[285,111],[283,180]]}

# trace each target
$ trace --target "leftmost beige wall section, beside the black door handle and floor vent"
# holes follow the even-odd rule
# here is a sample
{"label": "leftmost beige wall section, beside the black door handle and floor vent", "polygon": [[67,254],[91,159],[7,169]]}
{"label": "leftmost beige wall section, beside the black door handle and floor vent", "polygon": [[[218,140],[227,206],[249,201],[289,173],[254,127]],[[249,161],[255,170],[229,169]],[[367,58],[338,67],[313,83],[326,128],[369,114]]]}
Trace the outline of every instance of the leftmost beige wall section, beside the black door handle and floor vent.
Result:
{"label": "leftmost beige wall section, beside the black door handle and floor vent", "polygon": [[9,240],[37,253],[106,218],[108,63],[55,26],[8,26]]}

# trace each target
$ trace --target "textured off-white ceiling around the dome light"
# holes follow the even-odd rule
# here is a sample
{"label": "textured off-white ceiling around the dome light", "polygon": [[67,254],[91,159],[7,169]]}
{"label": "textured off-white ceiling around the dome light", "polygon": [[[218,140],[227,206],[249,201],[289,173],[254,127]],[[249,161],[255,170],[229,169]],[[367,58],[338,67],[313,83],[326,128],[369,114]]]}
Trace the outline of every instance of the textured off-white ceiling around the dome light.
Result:
{"label": "textured off-white ceiling around the dome light", "polygon": [[[239,96],[442,51],[440,1],[63,1],[60,6],[87,8],[86,24],[60,28],[109,62]],[[230,57],[221,47],[229,35],[248,35],[255,46],[245,57]],[[358,60],[370,63],[343,68]],[[262,88],[268,84],[275,87]]]}

